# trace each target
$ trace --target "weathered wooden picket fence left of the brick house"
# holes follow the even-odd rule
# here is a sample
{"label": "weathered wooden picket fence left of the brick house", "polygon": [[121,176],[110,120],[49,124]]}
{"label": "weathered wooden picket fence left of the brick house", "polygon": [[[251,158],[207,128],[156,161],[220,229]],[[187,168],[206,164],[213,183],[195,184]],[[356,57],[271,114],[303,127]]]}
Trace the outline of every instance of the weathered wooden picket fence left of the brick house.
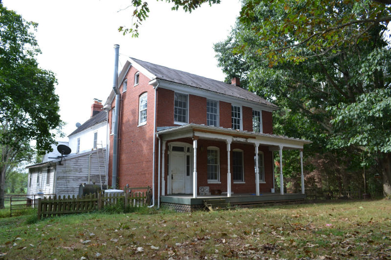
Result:
{"label": "weathered wooden picket fence left of the brick house", "polygon": [[[138,191],[138,190],[146,190]],[[109,205],[124,203],[127,207],[146,206],[150,197],[150,187],[126,188],[124,193],[105,194],[98,192],[82,197],[68,196],[61,198],[54,195],[53,197],[38,199],[38,219],[60,216],[64,214],[86,213],[103,210]]]}

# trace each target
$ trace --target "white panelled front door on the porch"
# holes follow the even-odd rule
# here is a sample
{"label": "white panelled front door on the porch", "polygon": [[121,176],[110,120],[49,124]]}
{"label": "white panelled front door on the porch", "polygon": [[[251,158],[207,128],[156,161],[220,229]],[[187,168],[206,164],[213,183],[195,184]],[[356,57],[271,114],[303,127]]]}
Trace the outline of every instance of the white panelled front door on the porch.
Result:
{"label": "white panelled front door on the porch", "polygon": [[172,193],[185,193],[185,153],[172,152],[170,155]]}

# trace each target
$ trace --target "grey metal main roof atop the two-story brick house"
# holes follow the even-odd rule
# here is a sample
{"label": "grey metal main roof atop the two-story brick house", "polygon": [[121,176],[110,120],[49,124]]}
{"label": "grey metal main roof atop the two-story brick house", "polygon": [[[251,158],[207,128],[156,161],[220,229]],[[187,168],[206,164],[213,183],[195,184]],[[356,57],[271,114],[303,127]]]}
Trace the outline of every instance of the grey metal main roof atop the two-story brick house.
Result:
{"label": "grey metal main roof atop the two-story brick house", "polygon": [[267,100],[264,100],[256,94],[239,86],[231,85],[218,80],[208,79],[188,72],[171,69],[143,60],[137,60],[134,58],[130,59],[131,61],[133,60],[134,62],[148,70],[151,74],[155,76],[155,79],[166,80],[178,84],[188,85],[191,87],[224,94],[235,98],[240,98],[243,100],[258,102],[269,107],[274,107],[275,109],[278,109],[277,105]]}

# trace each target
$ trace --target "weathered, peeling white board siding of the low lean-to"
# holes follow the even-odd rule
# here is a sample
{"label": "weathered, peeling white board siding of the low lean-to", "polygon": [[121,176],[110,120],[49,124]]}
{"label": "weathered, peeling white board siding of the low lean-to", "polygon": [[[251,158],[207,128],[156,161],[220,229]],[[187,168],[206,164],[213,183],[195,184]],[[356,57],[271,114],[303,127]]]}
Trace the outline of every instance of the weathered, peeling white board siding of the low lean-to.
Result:
{"label": "weathered, peeling white board siding of the low lean-to", "polygon": [[[92,146],[92,141],[91,141]],[[97,152],[99,151],[99,163]],[[75,158],[63,160],[62,165],[57,165],[56,171],[56,195],[60,196],[72,196],[79,194],[79,186],[82,183],[88,183],[88,159],[90,157],[90,183],[100,185],[99,170],[101,172],[102,184],[106,184],[105,173],[105,161],[102,158],[106,158],[106,151],[103,150],[104,157],[102,157],[101,151],[95,150],[95,152],[82,155]],[[91,156],[90,156],[91,155]]]}

